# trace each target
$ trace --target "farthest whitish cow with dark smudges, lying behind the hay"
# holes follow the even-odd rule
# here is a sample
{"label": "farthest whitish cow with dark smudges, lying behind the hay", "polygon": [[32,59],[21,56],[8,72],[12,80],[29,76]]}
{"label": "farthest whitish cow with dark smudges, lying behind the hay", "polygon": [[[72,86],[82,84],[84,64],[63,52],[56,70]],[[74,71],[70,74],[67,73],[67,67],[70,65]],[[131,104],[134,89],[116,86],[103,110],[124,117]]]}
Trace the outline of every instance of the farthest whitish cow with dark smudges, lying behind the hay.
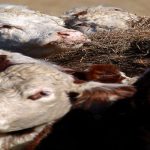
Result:
{"label": "farthest whitish cow with dark smudges, lying behind the hay", "polygon": [[116,7],[74,8],[62,15],[66,27],[79,30],[84,34],[100,31],[127,30],[133,22],[140,20],[139,16]]}

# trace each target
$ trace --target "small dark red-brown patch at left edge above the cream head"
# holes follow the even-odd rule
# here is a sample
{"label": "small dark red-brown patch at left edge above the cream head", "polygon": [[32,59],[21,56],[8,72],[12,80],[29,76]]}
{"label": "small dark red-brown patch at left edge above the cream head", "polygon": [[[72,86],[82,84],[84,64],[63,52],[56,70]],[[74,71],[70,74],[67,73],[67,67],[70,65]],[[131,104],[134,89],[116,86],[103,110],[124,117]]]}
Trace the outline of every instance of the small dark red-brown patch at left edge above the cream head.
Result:
{"label": "small dark red-brown patch at left edge above the cream head", "polygon": [[7,60],[7,55],[0,55],[0,72],[11,66],[12,63]]}

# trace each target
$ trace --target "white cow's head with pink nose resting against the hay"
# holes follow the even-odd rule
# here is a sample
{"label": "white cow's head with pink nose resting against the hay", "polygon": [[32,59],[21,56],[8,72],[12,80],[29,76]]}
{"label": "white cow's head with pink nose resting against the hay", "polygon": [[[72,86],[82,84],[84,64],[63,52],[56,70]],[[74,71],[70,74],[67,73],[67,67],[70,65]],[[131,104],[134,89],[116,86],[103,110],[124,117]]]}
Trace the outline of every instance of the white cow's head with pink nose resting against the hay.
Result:
{"label": "white cow's head with pink nose resting against the hay", "polygon": [[90,40],[64,27],[62,19],[18,5],[0,5],[0,48],[46,57]]}

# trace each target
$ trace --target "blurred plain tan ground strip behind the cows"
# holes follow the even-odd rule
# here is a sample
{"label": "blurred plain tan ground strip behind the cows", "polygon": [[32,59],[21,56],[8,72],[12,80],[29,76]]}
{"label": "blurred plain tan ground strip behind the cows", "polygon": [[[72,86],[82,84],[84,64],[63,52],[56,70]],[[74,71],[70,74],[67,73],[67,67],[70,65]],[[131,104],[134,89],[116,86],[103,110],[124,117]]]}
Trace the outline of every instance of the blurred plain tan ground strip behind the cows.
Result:
{"label": "blurred plain tan ground strip behind the cows", "polygon": [[22,4],[43,13],[59,16],[66,10],[81,6],[115,6],[138,15],[150,15],[150,0],[0,0],[0,3]]}

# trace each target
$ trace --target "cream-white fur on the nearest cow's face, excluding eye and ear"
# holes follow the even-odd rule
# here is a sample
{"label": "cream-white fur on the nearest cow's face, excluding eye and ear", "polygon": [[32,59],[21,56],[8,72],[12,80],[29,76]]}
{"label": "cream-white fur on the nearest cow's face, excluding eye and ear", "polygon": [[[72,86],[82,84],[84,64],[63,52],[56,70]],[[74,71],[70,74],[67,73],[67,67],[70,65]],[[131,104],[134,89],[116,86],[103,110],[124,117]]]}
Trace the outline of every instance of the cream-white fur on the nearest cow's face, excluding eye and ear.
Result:
{"label": "cream-white fur on the nearest cow's face, excluding eye and ear", "polygon": [[[0,55],[7,55],[16,64],[0,73],[0,149],[3,149],[5,145],[11,148],[29,142],[39,133],[14,138],[9,132],[52,124],[70,110],[67,92],[73,78],[51,63],[3,50]],[[48,95],[36,101],[28,99],[38,91]]]}

